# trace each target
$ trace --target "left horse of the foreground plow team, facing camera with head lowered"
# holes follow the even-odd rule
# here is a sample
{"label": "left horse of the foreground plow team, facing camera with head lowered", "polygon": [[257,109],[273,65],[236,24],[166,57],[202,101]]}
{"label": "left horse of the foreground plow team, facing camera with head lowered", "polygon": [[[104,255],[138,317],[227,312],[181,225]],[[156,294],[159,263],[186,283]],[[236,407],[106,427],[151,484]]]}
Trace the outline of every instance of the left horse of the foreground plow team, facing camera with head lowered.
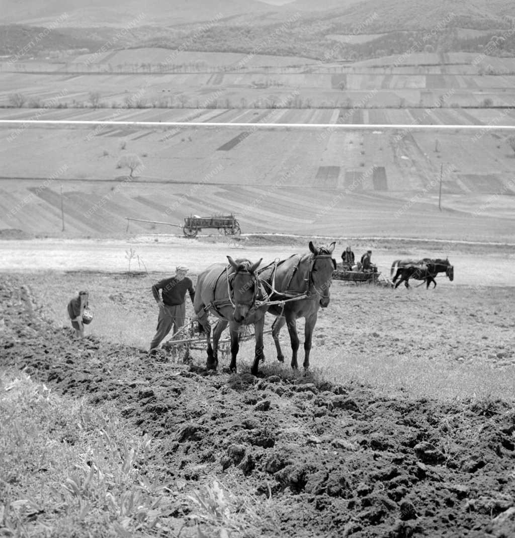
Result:
{"label": "left horse of the foreground plow team, facing camera with head lowered", "polygon": [[[263,327],[265,324],[265,306],[260,301],[267,298],[260,283],[256,269],[262,259],[252,264],[247,259],[233,260],[227,256],[229,265],[217,263],[210,265],[200,273],[195,289],[193,308],[195,310],[199,329],[206,333],[208,370],[218,367],[218,341],[229,324],[231,338],[231,363],[229,369],[236,372],[236,356],[238,355],[238,329],[240,325],[253,323],[256,336],[256,350],[251,372],[257,375],[259,360],[263,354]],[[211,325],[208,311],[219,318],[213,330],[213,345],[211,346]]]}

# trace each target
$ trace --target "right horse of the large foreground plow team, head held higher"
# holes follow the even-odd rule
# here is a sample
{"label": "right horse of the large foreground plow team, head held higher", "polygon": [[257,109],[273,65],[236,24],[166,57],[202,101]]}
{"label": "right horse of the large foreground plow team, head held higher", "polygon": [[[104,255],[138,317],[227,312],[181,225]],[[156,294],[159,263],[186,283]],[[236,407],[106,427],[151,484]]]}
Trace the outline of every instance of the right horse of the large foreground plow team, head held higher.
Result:
{"label": "right horse of the large foreground plow team, head held higher", "polygon": [[[298,368],[299,317],[305,318],[304,368],[307,370],[309,367],[309,353],[318,310],[320,307],[326,308],[330,301],[329,287],[336,268],[336,260],[331,254],[335,245],[336,242],[333,242],[328,247],[316,248],[310,241],[310,253],[293,254],[290,258],[273,262],[258,271],[259,279],[264,282],[266,291],[270,294],[268,312],[276,316],[272,324],[272,337],[276,344],[277,359],[284,362],[279,332],[287,323],[292,347],[291,366],[294,369]],[[274,302],[276,304],[273,304]]]}

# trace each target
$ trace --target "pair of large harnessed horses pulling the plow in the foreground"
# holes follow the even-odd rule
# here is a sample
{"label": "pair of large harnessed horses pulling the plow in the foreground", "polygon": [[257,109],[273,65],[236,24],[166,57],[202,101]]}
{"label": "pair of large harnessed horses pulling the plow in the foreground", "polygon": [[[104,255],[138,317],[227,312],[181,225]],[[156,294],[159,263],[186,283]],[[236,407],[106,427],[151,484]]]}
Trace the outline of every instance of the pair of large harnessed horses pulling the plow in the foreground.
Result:
{"label": "pair of large harnessed horses pulling the plow in the foreground", "polygon": [[[336,268],[336,260],[332,257],[335,245],[333,242],[328,247],[315,247],[309,242],[309,253],[293,254],[259,270],[263,258],[251,263],[247,259],[233,260],[227,256],[229,265],[213,264],[203,271],[197,279],[193,307],[197,321],[206,332],[208,369],[216,370],[218,366],[218,341],[229,324],[229,369],[236,372],[238,329],[242,324],[253,324],[256,348],[251,373],[257,376],[259,362],[264,360],[263,328],[266,312],[276,316],[272,325],[272,337],[280,362],[284,362],[284,355],[279,344],[279,332],[285,323],[287,325],[292,347],[292,368],[298,367],[297,319],[305,318],[304,368],[307,369],[318,310],[329,305],[329,287]],[[213,330],[213,345],[210,341],[209,312],[219,318]]]}

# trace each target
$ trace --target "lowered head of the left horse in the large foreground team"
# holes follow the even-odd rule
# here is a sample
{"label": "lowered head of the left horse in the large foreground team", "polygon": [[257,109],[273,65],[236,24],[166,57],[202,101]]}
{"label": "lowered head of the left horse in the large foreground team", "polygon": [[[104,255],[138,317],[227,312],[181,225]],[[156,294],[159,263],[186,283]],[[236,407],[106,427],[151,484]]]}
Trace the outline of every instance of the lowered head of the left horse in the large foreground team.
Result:
{"label": "lowered head of the left horse in the large foreground team", "polygon": [[230,256],[227,259],[234,269],[234,276],[229,279],[228,275],[229,299],[234,305],[234,321],[242,323],[256,303],[259,292],[256,269],[263,258],[255,264],[246,259],[235,261]]}

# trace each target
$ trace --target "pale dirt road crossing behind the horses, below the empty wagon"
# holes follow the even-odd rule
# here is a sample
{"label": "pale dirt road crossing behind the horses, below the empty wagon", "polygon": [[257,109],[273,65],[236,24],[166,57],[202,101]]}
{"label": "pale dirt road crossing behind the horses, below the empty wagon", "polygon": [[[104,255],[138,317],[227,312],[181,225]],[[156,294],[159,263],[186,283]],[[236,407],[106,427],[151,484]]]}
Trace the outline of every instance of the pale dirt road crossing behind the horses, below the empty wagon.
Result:
{"label": "pale dirt road crossing behind the horses, below the empty wagon", "polygon": [[[306,239],[307,250],[308,239]],[[393,260],[406,257],[428,256],[424,244],[417,249],[382,249],[380,242],[373,246],[372,261],[383,275],[389,275]],[[339,260],[345,243],[337,244],[335,258]],[[132,250],[131,250],[132,249]],[[88,270],[123,272],[173,271],[178,263],[189,266],[192,274],[200,273],[211,263],[225,261],[229,254],[233,258],[263,258],[269,263],[275,258],[284,258],[304,250],[301,246],[288,244],[251,245],[245,240],[235,244],[215,238],[211,242],[187,240],[182,237],[141,237],[136,239],[29,239],[23,241],[0,240],[0,271],[33,272],[39,270]],[[447,250],[448,252],[448,250]],[[515,252],[515,250],[514,250]],[[441,255],[445,254],[443,252]],[[361,255],[357,251],[356,255]],[[470,253],[461,249],[448,254],[455,266],[453,285],[469,286],[515,286],[513,254]],[[444,277],[439,285],[450,285]]]}

